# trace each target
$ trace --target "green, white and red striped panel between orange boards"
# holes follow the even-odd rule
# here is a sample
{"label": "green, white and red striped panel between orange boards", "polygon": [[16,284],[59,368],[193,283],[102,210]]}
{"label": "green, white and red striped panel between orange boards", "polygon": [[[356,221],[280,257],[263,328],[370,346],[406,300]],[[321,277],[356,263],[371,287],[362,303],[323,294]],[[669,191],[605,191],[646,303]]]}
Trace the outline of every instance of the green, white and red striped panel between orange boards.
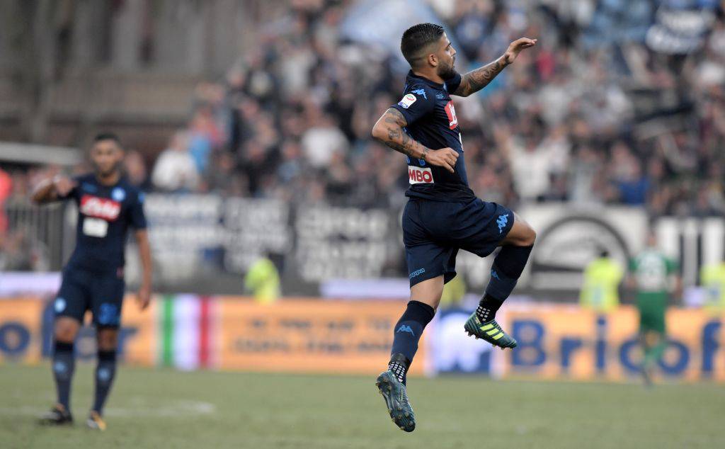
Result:
{"label": "green, white and red striped panel between orange boards", "polygon": [[165,295],[158,310],[159,365],[183,370],[217,366],[214,301],[195,294]]}

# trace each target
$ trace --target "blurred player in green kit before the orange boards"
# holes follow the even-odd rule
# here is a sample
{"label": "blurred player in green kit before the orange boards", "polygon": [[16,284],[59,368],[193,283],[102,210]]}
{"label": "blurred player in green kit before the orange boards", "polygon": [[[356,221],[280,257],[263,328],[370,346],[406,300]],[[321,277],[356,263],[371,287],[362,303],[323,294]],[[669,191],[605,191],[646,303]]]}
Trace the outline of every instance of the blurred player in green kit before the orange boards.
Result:
{"label": "blurred player in green kit before the orange boards", "polygon": [[[652,370],[667,346],[665,316],[669,291],[679,292],[682,281],[677,265],[657,247],[654,231],[647,235],[647,247],[631,260],[630,284],[637,287],[639,310],[639,342],[642,345],[642,379],[652,384]],[[673,282],[674,281],[674,282]]]}

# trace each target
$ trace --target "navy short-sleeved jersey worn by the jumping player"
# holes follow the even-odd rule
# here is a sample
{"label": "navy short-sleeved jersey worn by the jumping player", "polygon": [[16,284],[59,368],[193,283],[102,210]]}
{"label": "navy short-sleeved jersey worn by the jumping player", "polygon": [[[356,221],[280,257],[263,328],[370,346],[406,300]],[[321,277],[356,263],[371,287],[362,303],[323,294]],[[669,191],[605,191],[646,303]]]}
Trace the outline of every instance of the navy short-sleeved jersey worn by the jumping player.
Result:
{"label": "navy short-sleeved jersey worn by the jumping player", "polygon": [[455,173],[406,156],[410,181],[405,192],[407,197],[436,201],[468,201],[476,197],[468,187],[463,141],[449,94],[458,88],[460,79],[460,74],[456,73],[440,84],[415,75],[412,70],[405,77],[403,97],[392,106],[405,117],[404,131],[430,149],[449,147],[458,152]]}

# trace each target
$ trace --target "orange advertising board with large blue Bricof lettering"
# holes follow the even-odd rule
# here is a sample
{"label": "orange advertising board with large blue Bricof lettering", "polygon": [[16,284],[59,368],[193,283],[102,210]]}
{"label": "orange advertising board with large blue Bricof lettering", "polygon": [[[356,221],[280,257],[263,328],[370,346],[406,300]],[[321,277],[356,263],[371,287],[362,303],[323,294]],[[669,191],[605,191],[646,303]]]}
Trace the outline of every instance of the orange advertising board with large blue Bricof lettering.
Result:
{"label": "orange advertising board with large blue Bricof lettering", "polygon": [[[505,329],[519,346],[506,355],[503,374],[612,380],[637,376],[642,359],[638,320],[631,306],[597,314],[573,305],[512,305]],[[725,380],[721,327],[720,318],[702,310],[668,310],[668,345],[658,363],[660,374]]]}

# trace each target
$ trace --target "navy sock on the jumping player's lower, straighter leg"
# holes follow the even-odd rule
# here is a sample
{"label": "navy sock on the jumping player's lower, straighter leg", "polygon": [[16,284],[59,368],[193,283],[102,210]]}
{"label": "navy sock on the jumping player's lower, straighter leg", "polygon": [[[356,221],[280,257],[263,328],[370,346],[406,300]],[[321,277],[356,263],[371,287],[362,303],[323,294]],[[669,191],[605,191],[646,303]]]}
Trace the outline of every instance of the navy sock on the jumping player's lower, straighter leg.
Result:
{"label": "navy sock on the jumping player's lower, straighter leg", "polygon": [[[395,325],[389,368],[393,367],[391,370],[403,384],[405,384],[407,368],[413,362],[415,352],[418,350],[418,341],[423,335],[423,329],[431,322],[435,314],[436,311],[430,305],[420,301],[410,301],[405,313]],[[402,358],[397,355],[401,355]]]}

